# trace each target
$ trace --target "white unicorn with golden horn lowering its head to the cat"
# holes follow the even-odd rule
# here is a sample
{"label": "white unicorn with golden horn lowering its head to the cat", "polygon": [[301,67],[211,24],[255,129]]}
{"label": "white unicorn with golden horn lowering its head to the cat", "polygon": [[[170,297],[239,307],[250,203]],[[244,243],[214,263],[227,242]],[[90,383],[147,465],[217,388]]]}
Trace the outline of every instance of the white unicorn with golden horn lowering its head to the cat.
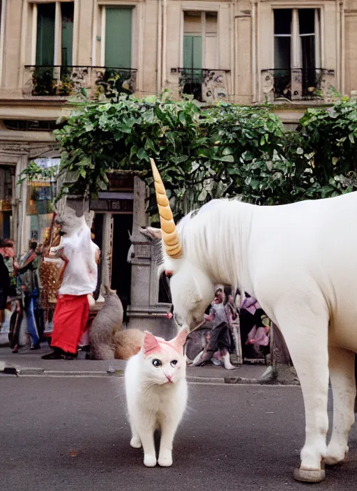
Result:
{"label": "white unicorn with golden horn lowering its head to the cat", "polygon": [[[195,328],[218,283],[259,301],[284,335],[303,391],[306,438],[294,477],[322,481],[324,463],[346,457],[354,423],[357,193],[282,206],[213,200],[176,227],[151,165],[176,322]],[[329,376],[334,411],[326,446]]]}

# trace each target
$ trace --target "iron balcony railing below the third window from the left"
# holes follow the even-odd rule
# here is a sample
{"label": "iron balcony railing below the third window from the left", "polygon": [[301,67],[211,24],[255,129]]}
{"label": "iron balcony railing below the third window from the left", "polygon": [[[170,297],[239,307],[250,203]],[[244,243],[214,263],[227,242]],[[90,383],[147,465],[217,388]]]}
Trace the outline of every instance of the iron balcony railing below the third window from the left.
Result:
{"label": "iron balcony railing below the third window from the left", "polygon": [[172,68],[171,73],[179,74],[180,96],[188,94],[208,104],[229,100],[231,70]]}

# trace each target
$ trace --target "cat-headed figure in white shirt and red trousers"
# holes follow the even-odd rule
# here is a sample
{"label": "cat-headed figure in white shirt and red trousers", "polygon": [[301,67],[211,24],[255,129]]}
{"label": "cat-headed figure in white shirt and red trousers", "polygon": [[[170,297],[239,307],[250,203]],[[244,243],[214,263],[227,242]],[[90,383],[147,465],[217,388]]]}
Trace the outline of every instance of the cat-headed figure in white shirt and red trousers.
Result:
{"label": "cat-headed figure in white shirt and red trousers", "polygon": [[91,240],[91,229],[84,215],[77,217],[75,211],[66,206],[55,221],[61,225],[63,238],[59,246],[50,248],[50,256],[60,257],[63,268],[57,280],[61,287],[53,318],[51,347],[54,351],[43,358],[73,359],[86,330],[89,303],[94,303],[100,251]]}

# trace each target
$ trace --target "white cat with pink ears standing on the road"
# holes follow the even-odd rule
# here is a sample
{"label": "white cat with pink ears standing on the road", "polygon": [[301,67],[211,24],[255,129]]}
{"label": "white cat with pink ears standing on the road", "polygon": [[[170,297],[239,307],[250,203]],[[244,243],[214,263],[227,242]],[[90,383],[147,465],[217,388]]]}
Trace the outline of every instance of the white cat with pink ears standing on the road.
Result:
{"label": "white cat with pink ears standing on the road", "polygon": [[172,441],[187,402],[186,362],[183,346],[188,332],[171,341],[145,331],[138,354],[126,365],[126,401],[132,439],[130,445],[144,448],[144,465],[156,465],[154,432],[160,430],[158,464],[172,465]]}

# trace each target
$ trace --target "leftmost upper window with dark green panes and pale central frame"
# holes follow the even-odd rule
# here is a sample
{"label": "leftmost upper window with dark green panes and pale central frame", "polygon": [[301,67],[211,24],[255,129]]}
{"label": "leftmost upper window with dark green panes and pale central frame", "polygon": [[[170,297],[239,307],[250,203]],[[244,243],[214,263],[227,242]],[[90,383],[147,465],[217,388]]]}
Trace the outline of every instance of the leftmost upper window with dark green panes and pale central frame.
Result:
{"label": "leftmost upper window with dark green panes and pale central frame", "polygon": [[71,66],[73,2],[38,3],[33,8],[37,10],[36,65]]}

